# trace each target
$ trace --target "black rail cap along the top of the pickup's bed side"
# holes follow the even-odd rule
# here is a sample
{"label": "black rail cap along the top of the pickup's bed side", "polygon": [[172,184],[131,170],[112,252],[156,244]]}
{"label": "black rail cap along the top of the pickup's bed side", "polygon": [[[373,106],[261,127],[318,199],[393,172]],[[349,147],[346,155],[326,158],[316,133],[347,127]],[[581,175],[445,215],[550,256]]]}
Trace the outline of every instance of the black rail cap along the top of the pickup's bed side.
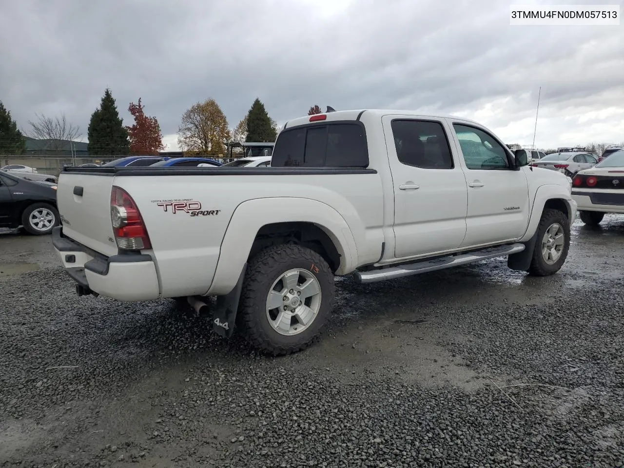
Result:
{"label": "black rail cap along the top of the pickup's bed side", "polygon": [[[353,121],[351,121],[353,122]],[[291,127],[295,128],[295,127]],[[142,177],[163,175],[345,175],[345,174],[376,174],[377,170],[363,167],[66,167],[71,170],[68,173],[89,173],[92,175],[105,175],[108,177]]]}

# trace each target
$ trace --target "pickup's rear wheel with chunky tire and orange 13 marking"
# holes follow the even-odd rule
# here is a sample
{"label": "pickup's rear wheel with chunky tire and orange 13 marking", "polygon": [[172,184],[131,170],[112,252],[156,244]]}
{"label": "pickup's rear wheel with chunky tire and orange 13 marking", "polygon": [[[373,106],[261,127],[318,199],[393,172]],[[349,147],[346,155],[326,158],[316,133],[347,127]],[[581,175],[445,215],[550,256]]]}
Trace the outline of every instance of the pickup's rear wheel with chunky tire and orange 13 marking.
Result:
{"label": "pickup's rear wheel with chunky tire and orange 13 marking", "polygon": [[247,265],[240,323],[261,351],[283,356],[318,340],[334,307],[334,275],[318,253],[300,245],[265,248]]}

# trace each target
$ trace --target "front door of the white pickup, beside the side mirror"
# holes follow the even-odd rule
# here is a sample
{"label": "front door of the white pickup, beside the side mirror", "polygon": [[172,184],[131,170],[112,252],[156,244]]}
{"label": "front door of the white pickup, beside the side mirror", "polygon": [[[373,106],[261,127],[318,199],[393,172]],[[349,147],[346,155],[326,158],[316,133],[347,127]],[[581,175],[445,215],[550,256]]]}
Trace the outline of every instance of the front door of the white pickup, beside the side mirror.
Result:
{"label": "front door of the white pickup, beside the side mirror", "polygon": [[468,182],[462,247],[522,237],[529,225],[529,168],[514,170],[510,152],[484,128],[451,119],[449,123]]}

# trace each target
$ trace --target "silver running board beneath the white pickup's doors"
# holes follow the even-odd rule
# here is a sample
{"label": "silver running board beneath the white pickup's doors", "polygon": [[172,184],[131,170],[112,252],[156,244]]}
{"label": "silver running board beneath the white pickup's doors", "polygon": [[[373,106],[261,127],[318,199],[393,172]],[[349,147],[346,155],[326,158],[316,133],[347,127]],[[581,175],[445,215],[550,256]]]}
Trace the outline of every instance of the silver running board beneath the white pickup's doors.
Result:
{"label": "silver running board beneath the white pickup's doors", "polygon": [[444,270],[452,266],[467,265],[480,260],[497,258],[523,251],[524,244],[498,245],[470,253],[437,257],[432,260],[421,260],[415,263],[407,263],[401,266],[391,266],[371,271],[356,271],[355,277],[358,283],[376,283],[377,281],[394,280],[403,276],[418,275],[427,271]]}

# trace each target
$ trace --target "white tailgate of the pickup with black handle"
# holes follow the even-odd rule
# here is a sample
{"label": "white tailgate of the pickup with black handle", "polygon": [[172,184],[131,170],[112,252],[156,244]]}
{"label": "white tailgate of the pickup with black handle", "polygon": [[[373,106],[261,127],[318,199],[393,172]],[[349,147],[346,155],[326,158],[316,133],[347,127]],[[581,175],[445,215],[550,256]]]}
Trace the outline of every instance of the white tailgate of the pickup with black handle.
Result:
{"label": "white tailgate of the pickup with black handle", "polygon": [[104,255],[116,255],[110,223],[110,190],[115,177],[61,172],[56,200],[63,235]]}

